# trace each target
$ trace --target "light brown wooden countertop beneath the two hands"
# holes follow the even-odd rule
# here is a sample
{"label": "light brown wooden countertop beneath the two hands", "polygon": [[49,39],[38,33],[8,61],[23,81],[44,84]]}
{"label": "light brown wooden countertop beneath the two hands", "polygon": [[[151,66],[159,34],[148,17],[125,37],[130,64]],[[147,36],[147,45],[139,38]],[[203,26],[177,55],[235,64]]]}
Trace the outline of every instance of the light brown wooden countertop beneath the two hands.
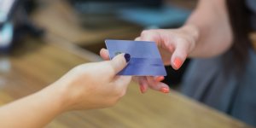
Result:
{"label": "light brown wooden countertop beneath the two hands", "polygon": [[[55,41],[48,40],[51,43]],[[11,55],[1,56],[0,104],[3,105],[40,90],[67,73],[72,67],[89,61],[84,55],[81,56],[72,51],[55,44],[29,39]],[[63,113],[47,127],[234,128],[248,126],[175,91],[167,95],[153,90],[141,94],[137,84],[131,83],[127,94],[113,108]]]}

